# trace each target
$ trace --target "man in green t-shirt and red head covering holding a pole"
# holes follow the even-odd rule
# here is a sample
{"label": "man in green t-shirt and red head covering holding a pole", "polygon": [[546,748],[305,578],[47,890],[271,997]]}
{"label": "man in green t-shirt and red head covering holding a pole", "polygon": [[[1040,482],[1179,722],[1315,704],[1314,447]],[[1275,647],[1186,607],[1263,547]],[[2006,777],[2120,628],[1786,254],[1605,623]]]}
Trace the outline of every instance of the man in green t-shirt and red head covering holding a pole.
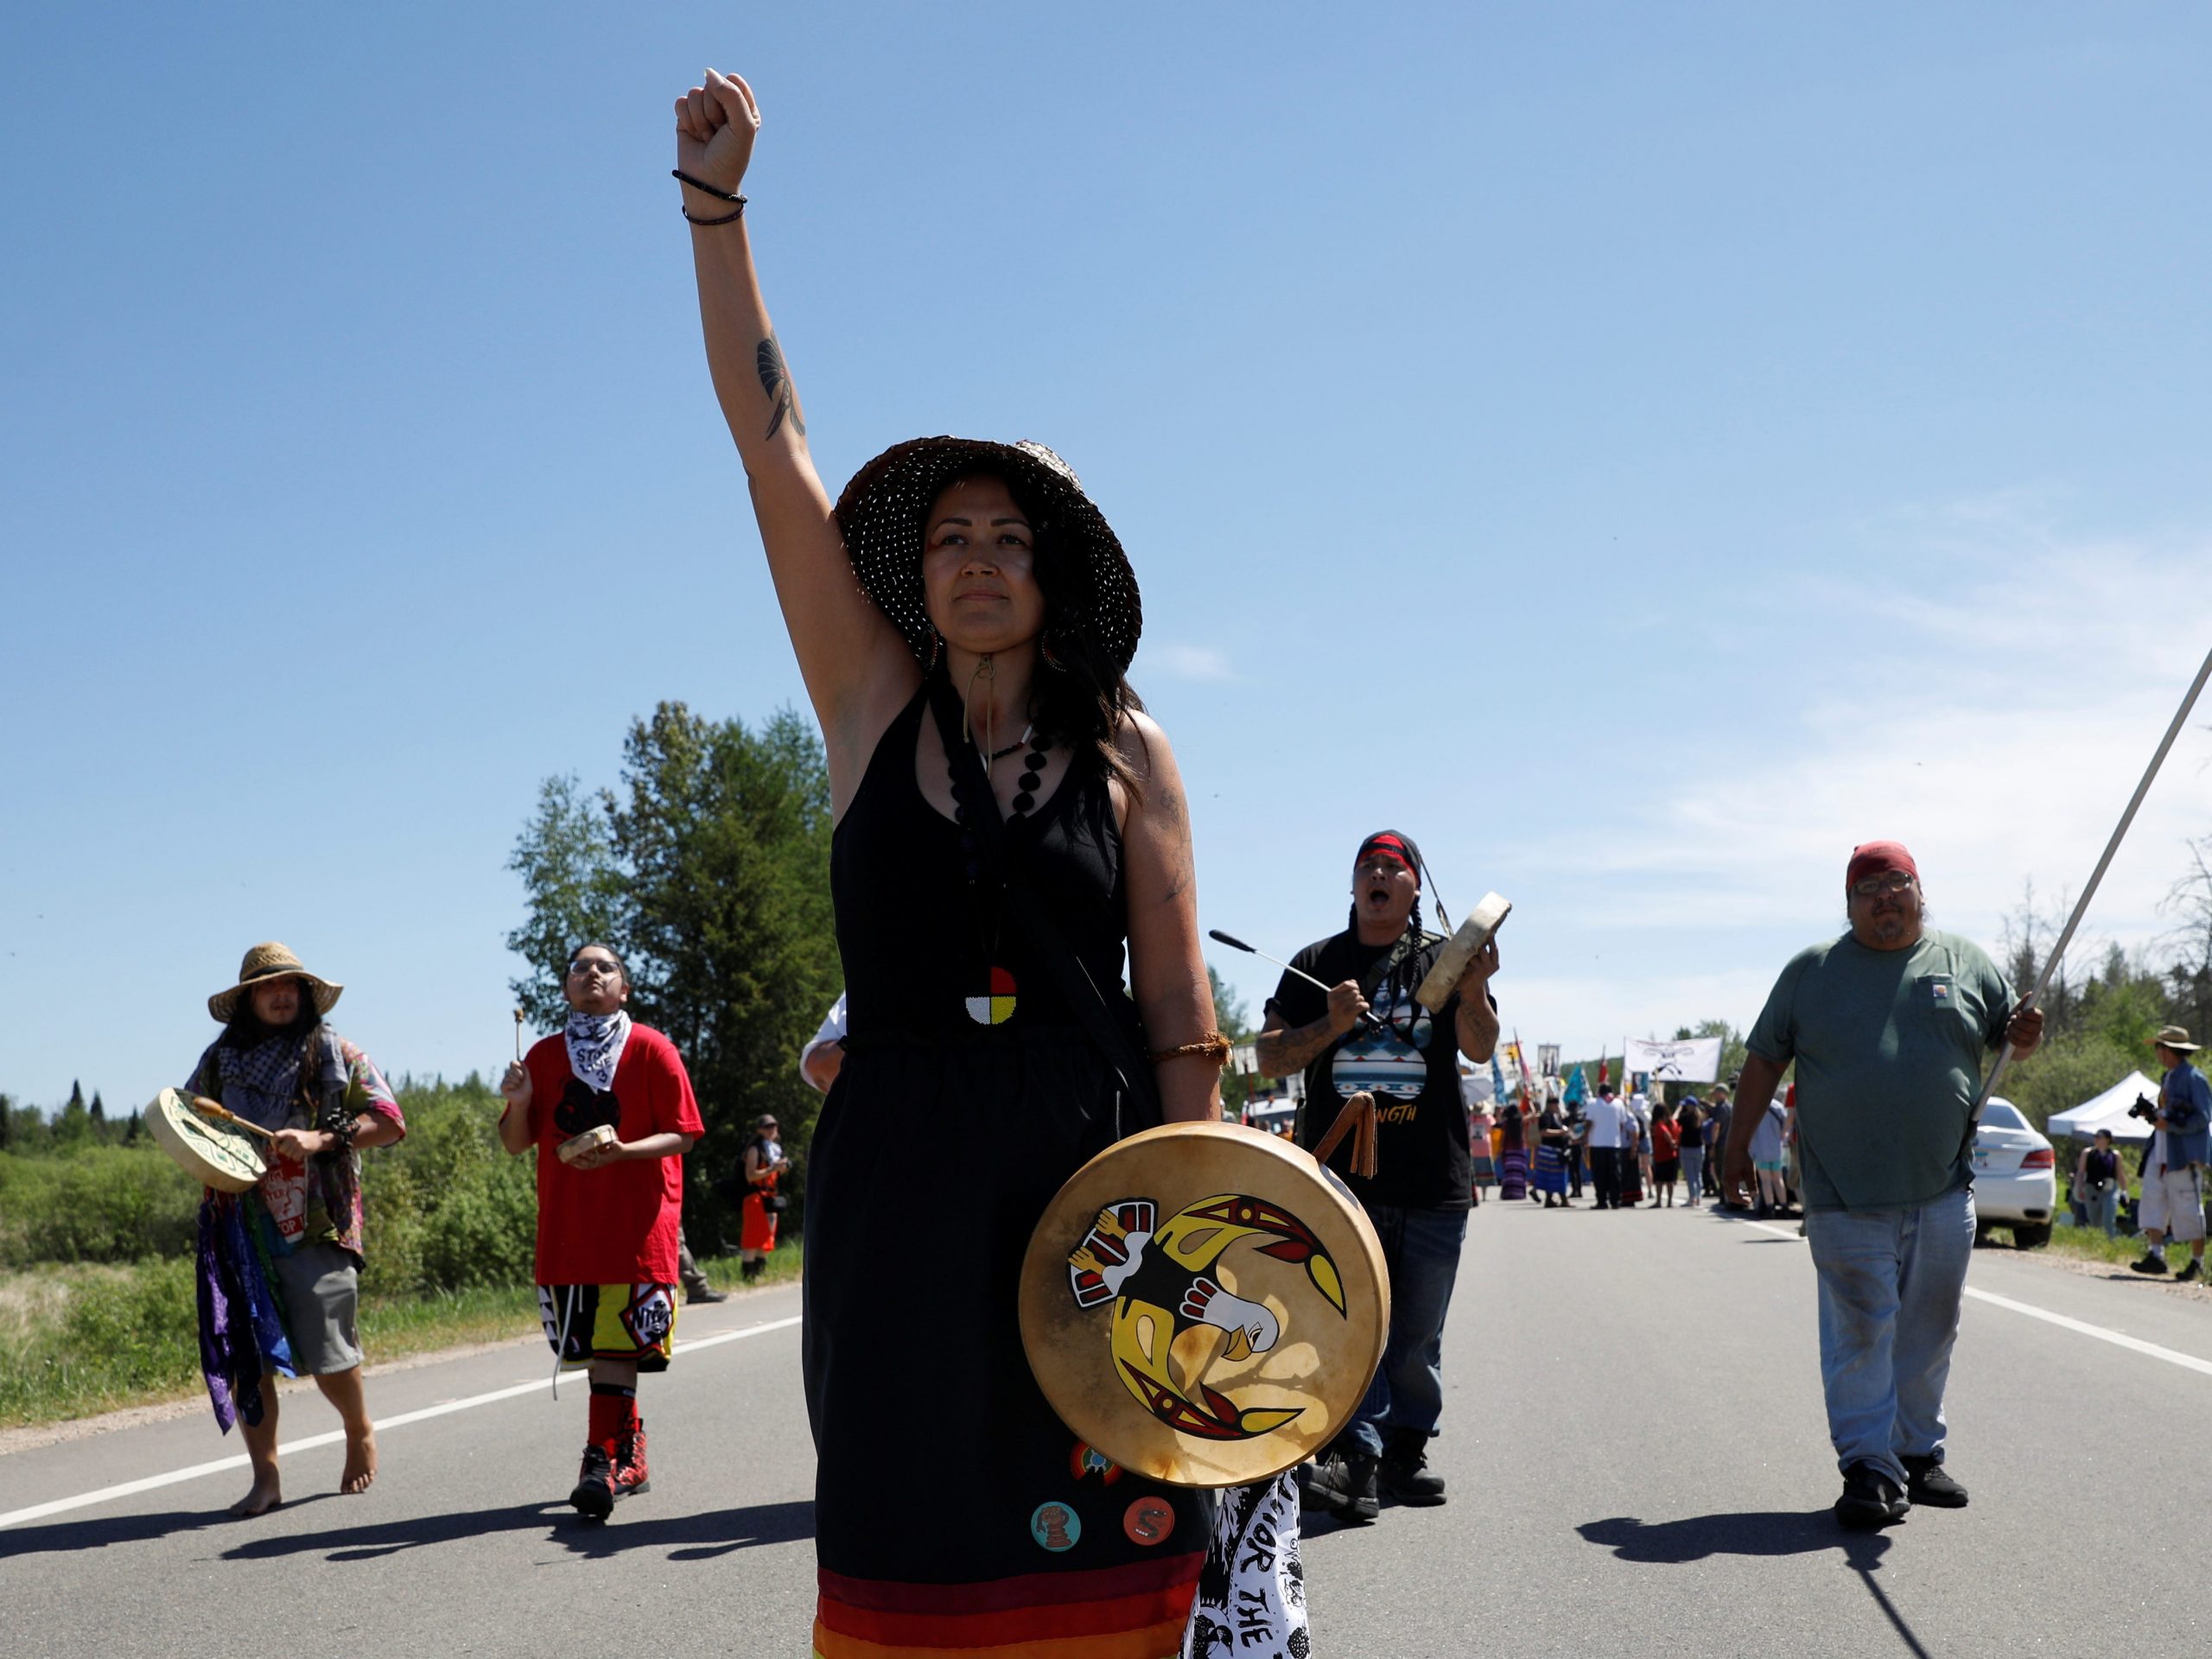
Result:
{"label": "man in green t-shirt and red head covering holding a pole", "polygon": [[[2033,1051],[2044,1015],[1978,945],[1924,925],[1900,843],[1854,847],[1843,885],[1851,931],[1790,958],[1736,1093],[1770,1099],[1796,1062],[1836,1517],[1887,1526],[1911,1504],[1966,1502],[1942,1467],[1942,1391],[1973,1254],[1973,1108],[1984,1057]],[[1730,1124],[1723,1197],[1750,1183],[1756,1126],[1741,1110]]]}

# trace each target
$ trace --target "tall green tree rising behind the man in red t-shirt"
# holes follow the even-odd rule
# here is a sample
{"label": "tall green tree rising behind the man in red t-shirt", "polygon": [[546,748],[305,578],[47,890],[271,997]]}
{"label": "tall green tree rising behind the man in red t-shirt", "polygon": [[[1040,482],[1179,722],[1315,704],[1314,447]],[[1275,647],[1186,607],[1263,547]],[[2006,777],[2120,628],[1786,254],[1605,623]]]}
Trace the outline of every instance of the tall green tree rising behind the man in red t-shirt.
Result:
{"label": "tall green tree rising behind the man in red t-shirt", "polygon": [[[661,703],[630,726],[619,790],[549,779],[515,843],[529,916],[507,942],[538,967],[515,995],[553,1026],[568,951],[622,953],[630,1011],[675,1040],[699,1093],[695,1172],[728,1172],[761,1113],[803,1172],[821,1097],[799,1048],[843,984],[830,827],[821,739],[796,712],[748,728]],[[708,1190],[695,1175],[692,1199]]]}

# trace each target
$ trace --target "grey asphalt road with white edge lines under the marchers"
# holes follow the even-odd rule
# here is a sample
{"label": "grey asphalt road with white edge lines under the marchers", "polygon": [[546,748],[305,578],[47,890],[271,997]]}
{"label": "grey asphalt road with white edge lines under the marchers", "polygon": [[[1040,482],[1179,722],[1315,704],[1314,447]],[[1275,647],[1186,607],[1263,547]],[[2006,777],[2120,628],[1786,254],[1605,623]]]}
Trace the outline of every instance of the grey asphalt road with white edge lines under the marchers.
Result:
{"label": "grey asphalt road with white edge lines under the marchers", "polygon": [[[2212,1296],[2006,1250],[1969,1283],[1973,1504],[1845,1535],[1794,1228],[1484,1206],[1447,1332],[1451,1502],[1310,1531],[1314,1652],[2212,1652]],[[538,1340],[372,1374],[376,1486],[334,1495],[341,1449],[310,1444],[252,1522],[221,1513],[243,1469],[77,1502],[234,1455],[206,1413],[0,1455],[4,1648],[801,1659],[796,1312],[772,1290],[684,1314],[697,1347],[641,1396],[653,1491],[606,1526],[562,1502],[584,1389],[546,1398]],[[288,1396],[288,1440],[334,1422]],[[885,1471],[887,1524],[927,1524],[942,1455],[918,1431],[916,1469]]]}

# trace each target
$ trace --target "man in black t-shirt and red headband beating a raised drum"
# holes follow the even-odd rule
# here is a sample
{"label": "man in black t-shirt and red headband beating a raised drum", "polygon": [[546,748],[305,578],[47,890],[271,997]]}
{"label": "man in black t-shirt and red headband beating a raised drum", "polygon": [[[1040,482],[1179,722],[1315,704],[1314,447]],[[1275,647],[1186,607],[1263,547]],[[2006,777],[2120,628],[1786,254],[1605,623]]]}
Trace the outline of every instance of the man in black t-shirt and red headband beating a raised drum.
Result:
{"label": "man in black t-shirt and red headband beating a raised drum", "polygon": [[1444,1502],[1427,1469],[1444,1413],[1442,1340],[1460,1272],[1471,1197],[1467,1102],[1458,1057],[1489,1064],[1498,1048],[1495,940],[1475,953],[1440,1009],[1413,989],[1444,938],[1420,925],[1425,865],[1411,836],[1383,830],[1352,860],[1352,918],[1343,933],[1298,951],[1294,964],[1334,989],[1285,973],[1267,1000],[1259,1064],[1272,1077],[1305,1073],[1301,1141],[1314,1148],[1345,1099],[1376,1099],[1376,1175],[1352,1172],[1352,1139],[1332,1159],[1367,1208],[1389,1265],[1391,1325],[1383,1369],[1358,1416],[1314,1462],[1307,1506],[1374,1520],[1378,1491],[1400,1504]]}

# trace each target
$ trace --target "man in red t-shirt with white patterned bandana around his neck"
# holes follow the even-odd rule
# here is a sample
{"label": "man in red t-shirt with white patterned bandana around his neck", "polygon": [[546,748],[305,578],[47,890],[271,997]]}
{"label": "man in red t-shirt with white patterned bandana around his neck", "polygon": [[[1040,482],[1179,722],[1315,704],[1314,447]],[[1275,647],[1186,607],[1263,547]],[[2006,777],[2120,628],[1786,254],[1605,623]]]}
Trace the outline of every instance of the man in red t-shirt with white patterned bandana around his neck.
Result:
{"label": "man in red t-shirt with white patterned bandana around his neck", "polygon": [[562,993],[568,1026],[500,1079],[500,1146],[538,1148],[538,1312],[560,1365],[591,1367],[591,1438],[568,1502],[606,1520],[648,1486],[637,1374],[668,1369],[684,1155],[706,1124],[677,1046],[624,1013],[619,956],[580,945]]}

